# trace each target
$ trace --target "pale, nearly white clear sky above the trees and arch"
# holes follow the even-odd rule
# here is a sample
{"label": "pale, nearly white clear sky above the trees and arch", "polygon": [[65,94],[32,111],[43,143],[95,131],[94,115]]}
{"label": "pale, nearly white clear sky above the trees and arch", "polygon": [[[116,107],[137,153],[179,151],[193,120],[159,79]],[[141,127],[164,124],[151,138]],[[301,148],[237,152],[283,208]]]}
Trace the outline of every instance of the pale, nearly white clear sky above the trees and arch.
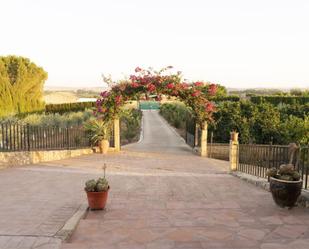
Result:
{"label": "pale, nearly white clear sky above the trees and arch", "polygon": [[227,87],[309,87],[309,0],[0,0],[0,55],[48,86],[173,65]]}

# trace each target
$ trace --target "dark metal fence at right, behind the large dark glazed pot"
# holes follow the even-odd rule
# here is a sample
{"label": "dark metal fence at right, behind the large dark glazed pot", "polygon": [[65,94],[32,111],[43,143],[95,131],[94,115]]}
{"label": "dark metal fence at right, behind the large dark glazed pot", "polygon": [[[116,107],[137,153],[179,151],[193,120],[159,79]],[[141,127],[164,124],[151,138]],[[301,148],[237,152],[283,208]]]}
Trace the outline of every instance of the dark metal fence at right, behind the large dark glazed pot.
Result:
{"label": "dark metal fence at right, behind the large dark glazed pot", "polygon": [[[238,171],[267,178],[266,172],[269,168],[279,168],[281,164],[287,163],[289,163],[288,145],[240,144],[238,146]],[[293,164],[302,176],[304,188],[308,189],[308,146],[303,146],[299,149]]]}

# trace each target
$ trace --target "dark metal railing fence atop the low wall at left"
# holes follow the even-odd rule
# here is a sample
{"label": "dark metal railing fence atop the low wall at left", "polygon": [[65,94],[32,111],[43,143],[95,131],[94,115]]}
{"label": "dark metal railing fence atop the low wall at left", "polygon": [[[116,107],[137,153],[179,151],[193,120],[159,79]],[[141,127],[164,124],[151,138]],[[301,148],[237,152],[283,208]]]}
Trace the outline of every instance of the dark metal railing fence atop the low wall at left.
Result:
{"label": "dark metal railing fence atop the low wall at left", "polygon": [[0,124],[0,151],[33,151],[89,147],[81,127],[48,127]]}

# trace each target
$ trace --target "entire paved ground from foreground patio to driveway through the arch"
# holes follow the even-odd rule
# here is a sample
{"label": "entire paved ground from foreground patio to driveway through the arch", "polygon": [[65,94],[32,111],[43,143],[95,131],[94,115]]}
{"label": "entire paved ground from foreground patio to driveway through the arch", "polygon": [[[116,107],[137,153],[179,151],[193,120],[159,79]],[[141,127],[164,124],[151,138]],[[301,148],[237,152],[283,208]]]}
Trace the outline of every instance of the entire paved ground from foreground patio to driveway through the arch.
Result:
{"label": "entire paved ground from foreground patio to driveway through the arch", "polygon": [[57,231],[104,163],[107,210],[89,212],[63,249],[309,248],[308,210],[280,209],[226,162],[195,156],[156,112],[143,134],[119,154],[0,171],[0,249],[59,248]]}

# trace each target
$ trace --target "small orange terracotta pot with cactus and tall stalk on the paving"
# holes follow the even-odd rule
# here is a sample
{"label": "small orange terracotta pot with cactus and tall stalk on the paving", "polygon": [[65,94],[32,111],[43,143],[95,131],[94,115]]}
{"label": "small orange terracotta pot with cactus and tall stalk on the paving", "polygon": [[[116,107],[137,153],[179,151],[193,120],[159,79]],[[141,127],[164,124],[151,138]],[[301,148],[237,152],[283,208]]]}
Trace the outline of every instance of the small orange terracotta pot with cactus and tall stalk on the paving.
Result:
{"label": "small orange terracotta pot with cactus and tall stalk on the paving", "polygon": [[91,210],[101,210],[105,208],[108,191],[110,189],[109,183],[105,178],[104,165],[104,177],[99,179],[91,179],[85,183],[85,191],[87,193],[88,205]]}

